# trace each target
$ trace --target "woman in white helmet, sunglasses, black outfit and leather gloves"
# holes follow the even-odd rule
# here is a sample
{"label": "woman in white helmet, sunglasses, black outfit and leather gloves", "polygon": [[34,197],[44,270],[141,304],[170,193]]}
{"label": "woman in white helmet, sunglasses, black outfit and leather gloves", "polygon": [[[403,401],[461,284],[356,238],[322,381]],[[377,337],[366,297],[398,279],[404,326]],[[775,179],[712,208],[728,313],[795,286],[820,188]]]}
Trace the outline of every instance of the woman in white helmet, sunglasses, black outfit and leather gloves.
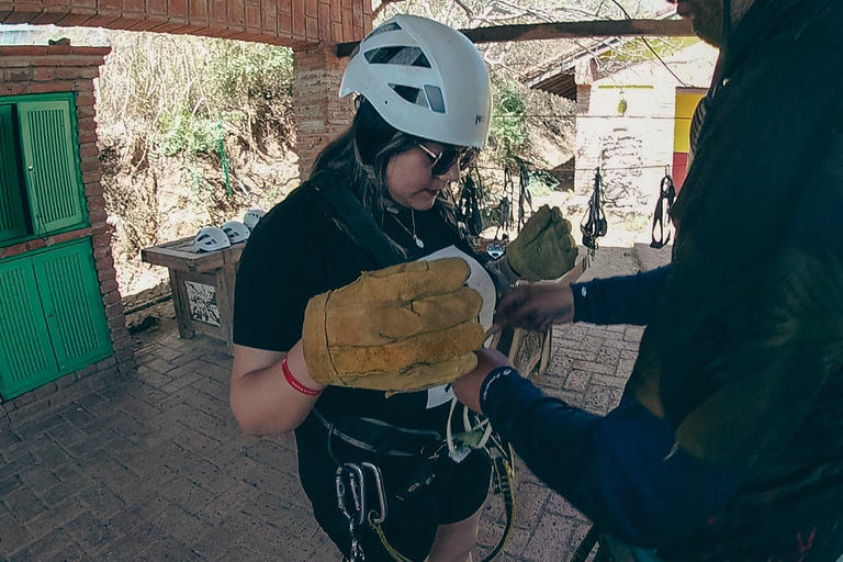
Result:
{"label": "woman in white helmet, sunglasses, black outfit and leather gloves", "polygon": [[[372,562],[470,562],[491,464],[480,450],[449,456],[457,403],[446,383],[476,364],[492,325],[495,284],[483,266],[506,283],[515,273],[482,263],[448,190],[486,140],[488,72],[461,33],[397,15],[361,43],[340,93],[359,94],[351,126],[244,249],[232,411],[250,434],[295,430],[302,487],[348,559],[361,560],[362,547]],[[540,244],[516,245],[515,263],[559,277],[557,266],[530,266],[573,260],[570,223],[558,210],[536,216]],[[472,285],[475,272],[488,296]],[[355,470],[367,472],[353,480]]]}

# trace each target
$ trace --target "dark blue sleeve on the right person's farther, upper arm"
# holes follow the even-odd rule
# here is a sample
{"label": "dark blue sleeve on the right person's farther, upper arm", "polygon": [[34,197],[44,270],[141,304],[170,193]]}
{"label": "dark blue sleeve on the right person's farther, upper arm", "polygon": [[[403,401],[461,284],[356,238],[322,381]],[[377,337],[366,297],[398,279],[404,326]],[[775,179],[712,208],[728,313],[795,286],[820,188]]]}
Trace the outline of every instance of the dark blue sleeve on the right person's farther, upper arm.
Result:
{"label": "dark blue sleeve on the right person's farther, upper arm", "polygon": [[645,325],[670,271],[664,266],[634,276],[574,283],[574,322]]}

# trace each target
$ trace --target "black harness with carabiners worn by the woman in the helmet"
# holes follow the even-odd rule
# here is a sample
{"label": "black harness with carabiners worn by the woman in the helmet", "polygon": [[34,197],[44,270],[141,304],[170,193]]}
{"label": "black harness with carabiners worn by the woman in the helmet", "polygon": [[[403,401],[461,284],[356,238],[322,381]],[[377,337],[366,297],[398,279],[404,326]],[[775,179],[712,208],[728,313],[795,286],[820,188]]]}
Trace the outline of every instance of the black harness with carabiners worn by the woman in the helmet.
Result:
{"label": "black harness with carabiners worn by the woman in the helmet", "polygon": [[[338,226],[357,245],[370,251],[382,267],[390,267],[405,260],[339,176],[331,172],[317,173],[308,180],[308,184],[313,188],[312,200],[327,216],[340,218]],[[336,473],[338,507],[348,519],[351,537],[349,562],[364,560],[366,554],[359,540],[364,527],[369,527],[379,537],[386,552],[395,561],[412,561],[389,543],[381,528],[381,524],[389,515],[389,506],[380,468],[370,462],[340,462],[333,452],[331,442],[335,438],[378,454],[422,457],[419,469],[396,494],[397,499],[407,499],[431,485],[436,479],[447,477],[447,474],[442,474],[447,459],[452,459],[454,461],[452,468],[456,468],[456,463],[468,457],[472,450],[483,451],[492,463],[494,492],[503,495],[507,516],[504,536],[483,562],[492,561],[509,541],[515,520],[515,465],[512,448],[492,431],[486,418],[470,414],[464,406],[461,406],[463,408],[462,430],[454,434],[452,419],[456,407],[457,400],[453,398],[445,439],[437,431],[402,428],[372,418],[345,416],[341,423],[337,424],[328,422],[316,408],[312,411],[314,417],[327,429],[328,451],[338,467]],[[362,435],[366,437],[361,437]],[[372,440],[376,440],[378,443],[372,443]],[[372,509],[369,509],[366,503],[367,490],[370,486],[374,486],[379,504]]]}

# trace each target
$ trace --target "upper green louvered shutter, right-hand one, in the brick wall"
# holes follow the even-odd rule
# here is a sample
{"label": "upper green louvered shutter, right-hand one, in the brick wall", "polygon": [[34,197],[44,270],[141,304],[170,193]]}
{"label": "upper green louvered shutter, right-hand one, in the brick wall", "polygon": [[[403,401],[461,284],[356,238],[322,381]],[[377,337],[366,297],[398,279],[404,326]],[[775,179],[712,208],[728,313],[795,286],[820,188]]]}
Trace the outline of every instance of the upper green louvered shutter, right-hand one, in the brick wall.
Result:
{"label": "upper green louvered shutter, right-hand one, in the brick wall", "polygon": [[70,102],[21,102],[18,115],[35,234],[83,224]]}

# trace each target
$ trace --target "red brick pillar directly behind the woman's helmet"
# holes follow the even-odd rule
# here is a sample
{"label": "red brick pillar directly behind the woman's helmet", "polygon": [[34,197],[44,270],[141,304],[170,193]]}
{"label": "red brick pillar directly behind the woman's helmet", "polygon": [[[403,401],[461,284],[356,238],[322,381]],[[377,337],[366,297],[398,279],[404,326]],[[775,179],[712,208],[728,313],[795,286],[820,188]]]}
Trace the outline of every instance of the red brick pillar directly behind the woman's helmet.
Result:
{"label": "red brick pillar directly behind the woman's helmet", "polygon": [[337,58],[336,45],[319,43],[293,50],[293,108],[299,172],[304,180],[325,145],[351,124],[351,99],[339,98],[348,58]]}

